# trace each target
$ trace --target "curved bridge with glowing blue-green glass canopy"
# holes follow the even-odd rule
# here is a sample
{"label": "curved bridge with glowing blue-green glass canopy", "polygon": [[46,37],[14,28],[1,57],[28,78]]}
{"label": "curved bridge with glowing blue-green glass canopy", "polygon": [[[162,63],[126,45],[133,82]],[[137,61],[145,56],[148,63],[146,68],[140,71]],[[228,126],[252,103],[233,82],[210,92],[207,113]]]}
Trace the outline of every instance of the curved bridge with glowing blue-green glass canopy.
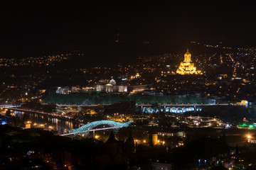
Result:
{"label": "curved bridge with glowing blue-green glass canopy", "polygon": [[[99,120],[99,121],[95,121],[95,122],[83,125],[80,128],[70,129],[70,130],[68,130],[68,133],[63,134],[62,136],[65,136],[65,135],[82,135],[82,134],[88,135],[89,132],[94,133],[97,130],[108,130],[108,129],[128,127],[131,123],[132,123],[132,120],[129,120],[126,123],[118,123],[118,122],[115,122],[115,121],[112,121],[112,120]],[[109,125],[110,128],[95,129],[99,125]]]}

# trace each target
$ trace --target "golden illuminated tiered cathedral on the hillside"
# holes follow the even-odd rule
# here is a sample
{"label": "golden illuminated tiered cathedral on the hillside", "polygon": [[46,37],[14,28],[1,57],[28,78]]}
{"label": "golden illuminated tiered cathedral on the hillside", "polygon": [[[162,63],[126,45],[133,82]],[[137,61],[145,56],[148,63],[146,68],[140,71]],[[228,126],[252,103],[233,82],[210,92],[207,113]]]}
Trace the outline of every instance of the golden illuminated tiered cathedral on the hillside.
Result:
{"label": "golden illuminated tiered cathedral on the hillside", "polygon": [[191,53],[189,53],[188,50],[184,55],[184,61],[181,62],[176,73],[177,74],[201,74],[201,71],[196,71],[196,67],[194,67],[194,64],[191,60]]}

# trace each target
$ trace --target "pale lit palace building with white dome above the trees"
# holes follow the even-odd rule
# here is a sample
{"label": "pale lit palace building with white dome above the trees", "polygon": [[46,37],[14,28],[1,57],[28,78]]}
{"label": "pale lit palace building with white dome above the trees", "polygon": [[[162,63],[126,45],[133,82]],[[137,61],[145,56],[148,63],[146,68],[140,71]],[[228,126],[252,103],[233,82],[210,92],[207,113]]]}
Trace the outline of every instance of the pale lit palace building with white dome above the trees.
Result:
{"label": "pale lit palace building with white dome above the trees", "polygon": [[116,81],[114,81],[113,77],[110,80],[109,84],[98,84],[96,89],[101,92],[114,92],[114,93],[124,93],[127,92],[127,86],[117,85]]}

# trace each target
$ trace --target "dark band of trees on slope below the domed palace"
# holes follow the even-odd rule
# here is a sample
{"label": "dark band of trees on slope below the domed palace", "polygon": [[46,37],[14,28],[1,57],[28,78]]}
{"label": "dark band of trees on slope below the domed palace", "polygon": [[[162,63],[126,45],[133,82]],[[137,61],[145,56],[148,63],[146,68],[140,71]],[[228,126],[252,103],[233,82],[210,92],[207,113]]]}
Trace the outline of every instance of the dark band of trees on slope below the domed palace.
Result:
{"label": "dark band of trees on slope below the domed palace", "polygon": [[206,97],[196,96],[147,96],[142,94],[105,94],[105,93],[80,93],[80,94],[54,94],[50,93],[43,98],[45,103],[70,104],[70,105],[91,105],[109,104],[121,101],[135,101],[142,103],[209,103]]}

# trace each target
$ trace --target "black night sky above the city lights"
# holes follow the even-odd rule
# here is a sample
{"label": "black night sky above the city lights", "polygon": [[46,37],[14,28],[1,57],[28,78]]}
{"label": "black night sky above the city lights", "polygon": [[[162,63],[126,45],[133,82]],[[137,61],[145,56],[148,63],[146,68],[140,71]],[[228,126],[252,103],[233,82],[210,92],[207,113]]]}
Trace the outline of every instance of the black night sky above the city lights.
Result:
{"label": "black night sky above the city lights", "polygon": [[[127,57],[186,49],[191,40],[251,47],[256,46],[255,13],[252,1],[1,1],[0,57],[80,50],[115,59],[122,52]],[[117,33],[122,45],[114,44]],[[145,40],[149,47],[140,43]]]}

